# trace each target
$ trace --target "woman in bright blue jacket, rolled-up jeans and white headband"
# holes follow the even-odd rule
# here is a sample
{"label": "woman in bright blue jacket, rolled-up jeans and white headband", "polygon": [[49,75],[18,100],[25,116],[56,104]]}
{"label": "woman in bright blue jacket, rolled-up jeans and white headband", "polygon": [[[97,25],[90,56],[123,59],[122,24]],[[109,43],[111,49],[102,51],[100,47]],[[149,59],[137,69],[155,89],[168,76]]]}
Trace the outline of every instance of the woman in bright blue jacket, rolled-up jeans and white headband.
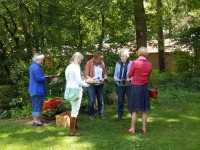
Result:
{"label": "woman in bright blue jacket, rolled-up jeans and white headband", "polygon": [[32,116],[34,126],[43,126],[39,116],[46,95],[45,81],[50,80],[50,78],[44,77],[40,68],[43,61],[44,55],[35,53],[33,56],[33,62],[29,68],[30,81],[28,92],[30,93],[32,99]]}

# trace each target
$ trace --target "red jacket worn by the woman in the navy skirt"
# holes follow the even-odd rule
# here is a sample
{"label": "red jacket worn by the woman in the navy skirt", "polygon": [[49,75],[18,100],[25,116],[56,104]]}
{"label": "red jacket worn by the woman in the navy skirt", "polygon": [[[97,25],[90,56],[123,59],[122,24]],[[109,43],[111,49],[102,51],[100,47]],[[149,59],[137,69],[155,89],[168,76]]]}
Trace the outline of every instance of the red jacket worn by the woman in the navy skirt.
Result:
{"label": "red jacket worn by the woman in the navy skirt", "polygon": [[148,83],[151,71],[152,64],[145,57],[141,56],[132,62],[128,77],[133,77],[132,84],[144,85]]}

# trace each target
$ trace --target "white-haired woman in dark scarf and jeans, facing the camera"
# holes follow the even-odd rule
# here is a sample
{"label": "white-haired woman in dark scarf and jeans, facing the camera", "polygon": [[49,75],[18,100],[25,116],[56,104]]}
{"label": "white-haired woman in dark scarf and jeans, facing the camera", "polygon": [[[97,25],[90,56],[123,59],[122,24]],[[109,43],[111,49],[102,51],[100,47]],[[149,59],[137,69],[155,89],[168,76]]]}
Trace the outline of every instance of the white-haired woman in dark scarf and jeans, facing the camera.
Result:
{"label": "white-haired woman in dark scarf and jeans, facing the camera", "polygon": [[127,72],[130,70],[131,61],[129,58],[128,50],[121,50],[119,53],[120,60],[115,66],[114,81],[117,84],[117,95],[118,95],[118,120],[122,119],[124,111],[124,98],[130,98],[131,92],[131,79],[127,77]]}

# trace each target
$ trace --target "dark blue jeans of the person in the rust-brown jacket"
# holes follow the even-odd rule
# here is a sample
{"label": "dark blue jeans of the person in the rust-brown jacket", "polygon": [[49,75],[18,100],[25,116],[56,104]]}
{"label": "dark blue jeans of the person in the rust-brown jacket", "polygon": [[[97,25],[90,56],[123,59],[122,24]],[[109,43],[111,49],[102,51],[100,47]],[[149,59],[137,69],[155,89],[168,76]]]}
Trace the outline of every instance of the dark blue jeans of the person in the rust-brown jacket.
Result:
{"label": "dark blue jeans of the person in the rust-brown jacket", "polygon": [[87,87],[88,91],[88,113],[90,116],[94,116],[94,103],[97,97],[98,101],[98,113],[103,115],[104,113],[104,100],[103,100],[103,85],[91,85]]}

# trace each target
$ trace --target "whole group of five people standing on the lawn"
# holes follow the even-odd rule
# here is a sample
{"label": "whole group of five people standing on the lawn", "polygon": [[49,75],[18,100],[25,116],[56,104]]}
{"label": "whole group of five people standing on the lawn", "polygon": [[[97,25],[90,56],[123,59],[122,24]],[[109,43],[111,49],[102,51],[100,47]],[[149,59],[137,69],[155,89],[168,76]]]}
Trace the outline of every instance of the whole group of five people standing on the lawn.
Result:
{"label": "whole group of five people standing on the lawn", "polygon": [[[136,133],[136,122],[138,112],[142,114],[141,132],[147,132],[147,111],[150,110],[150,97],[148,92],[148,80],[152,71],[152,64],[147,60],[148,51],[145,47],[138,49],[138,58],[135,61],[129,60],[129,52],[122,50],[119,53],[120,60],[116,63],[114,81],[117,85],[118,95],[118,120],[123,118],[124,99],[125,95],[128,99],[128,111],[131,114],[131,127],[127,130],[130,134]],[[42,110],[42,104],[46,95],[45,82],[50,81],[51,77],[44,77],[40,65],[45,57],[43,54],[35,54],[33,63],[30,65],[30,84],[29,93],[32,99],[32,116],[34,126],[43,126],[39,116]],[[70,101],[71,116],[70,116],[70,131],[69,135],[77,136],[80,133],[77,131],[77,117],[82,100],[82,87],[87,88],[88,93],[88,114],[91,121],[94,117],[94,104],[97,99],[98,114],[101,119],[106,119],[104,115],[104,99],[103,87],[104,82],[107,82],[106,67],[103,61],[103,53],[95,52],[93,58],[88,60],[85,65],[85,71],[82,73],[80,64],[83,60],[83,55],[76,52],[70,59],[70,64],[65,70],[66,88],[80,88],[81,93],[77,101]],[[93,81],[100,81],[98,84],[93,84]]]}

